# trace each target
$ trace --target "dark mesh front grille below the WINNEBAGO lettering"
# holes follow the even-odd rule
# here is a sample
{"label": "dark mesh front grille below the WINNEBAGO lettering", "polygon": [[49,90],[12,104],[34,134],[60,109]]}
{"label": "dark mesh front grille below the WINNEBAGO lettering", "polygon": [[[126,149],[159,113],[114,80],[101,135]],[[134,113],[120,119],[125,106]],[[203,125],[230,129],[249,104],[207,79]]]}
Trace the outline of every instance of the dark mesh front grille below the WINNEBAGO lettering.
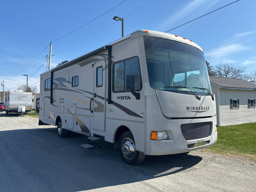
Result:
{"label": "dark mesh front grille below the WINNEBAGO lettering", "polygon": [[180,129],[185,140],[208,137],[212,131],[212,122],[181,124]]}

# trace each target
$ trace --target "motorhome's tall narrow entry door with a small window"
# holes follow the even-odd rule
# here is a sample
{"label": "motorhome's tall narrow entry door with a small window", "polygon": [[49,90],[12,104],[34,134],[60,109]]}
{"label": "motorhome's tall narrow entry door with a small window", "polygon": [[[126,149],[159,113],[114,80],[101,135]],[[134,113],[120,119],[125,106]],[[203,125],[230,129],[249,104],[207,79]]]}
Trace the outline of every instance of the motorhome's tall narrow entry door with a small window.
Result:
{"label": "motorhome's tall narrow entry door with a small window", "polygon": [[105,132],[106,111],[106,62],[94,63],[93,80],[93,129]]}

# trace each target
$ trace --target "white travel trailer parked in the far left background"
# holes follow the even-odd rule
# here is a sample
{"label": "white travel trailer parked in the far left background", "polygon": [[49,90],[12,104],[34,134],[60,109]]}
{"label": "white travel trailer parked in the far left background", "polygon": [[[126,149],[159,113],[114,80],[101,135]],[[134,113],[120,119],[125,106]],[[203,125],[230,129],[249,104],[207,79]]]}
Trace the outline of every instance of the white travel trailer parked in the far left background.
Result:
{"label": "white travel trailer parked in the far left background", "polygon": [[32,110],[32,93],[22,90],[8,91],[5,93],[6,114],[21,113],[19,106],[23,106],[23,113]]}

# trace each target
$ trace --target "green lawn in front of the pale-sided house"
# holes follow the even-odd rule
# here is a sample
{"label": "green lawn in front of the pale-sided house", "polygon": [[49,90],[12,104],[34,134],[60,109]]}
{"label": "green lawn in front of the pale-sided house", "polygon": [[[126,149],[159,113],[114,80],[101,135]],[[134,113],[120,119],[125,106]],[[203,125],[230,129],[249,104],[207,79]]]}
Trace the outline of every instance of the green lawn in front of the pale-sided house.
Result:
{"label": "green lawn in front of the pale-sided house", "polygon": [[217,142],[205,151],[239,155],[256,160],[256,123],[217,127]]}

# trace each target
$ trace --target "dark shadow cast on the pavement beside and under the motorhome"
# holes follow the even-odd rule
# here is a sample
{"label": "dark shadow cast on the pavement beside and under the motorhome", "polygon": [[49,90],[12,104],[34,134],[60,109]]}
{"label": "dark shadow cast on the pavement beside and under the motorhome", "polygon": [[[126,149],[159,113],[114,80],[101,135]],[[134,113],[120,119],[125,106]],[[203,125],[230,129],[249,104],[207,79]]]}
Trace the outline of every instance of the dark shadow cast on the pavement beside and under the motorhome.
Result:
{"label": "dark shadow cast on the pavement beside and under the motorhome", "polygon": [[[86,150],[80,146],[84,143],[80,134],[59,138],[56,128],[1,131],[0,191],[102,188],[174,174],[202,160],[189,154],[146,156],[142,164],[131,166],[110,144]],[[10,180],[15,184],[9,186]]]}

